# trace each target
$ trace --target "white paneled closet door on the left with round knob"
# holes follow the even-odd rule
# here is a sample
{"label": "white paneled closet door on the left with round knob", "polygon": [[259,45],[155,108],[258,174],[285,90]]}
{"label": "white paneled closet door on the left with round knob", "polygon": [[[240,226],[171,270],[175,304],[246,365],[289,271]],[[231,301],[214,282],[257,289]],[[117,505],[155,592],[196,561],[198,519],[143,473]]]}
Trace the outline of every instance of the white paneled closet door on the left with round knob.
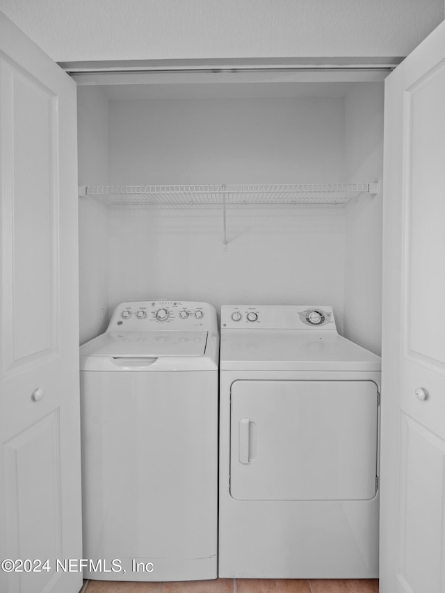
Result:
{"label": "white paneled closet door on the left with round knob", "polygon": [[0,13],[1,592],[78,592],[76,88]]}

